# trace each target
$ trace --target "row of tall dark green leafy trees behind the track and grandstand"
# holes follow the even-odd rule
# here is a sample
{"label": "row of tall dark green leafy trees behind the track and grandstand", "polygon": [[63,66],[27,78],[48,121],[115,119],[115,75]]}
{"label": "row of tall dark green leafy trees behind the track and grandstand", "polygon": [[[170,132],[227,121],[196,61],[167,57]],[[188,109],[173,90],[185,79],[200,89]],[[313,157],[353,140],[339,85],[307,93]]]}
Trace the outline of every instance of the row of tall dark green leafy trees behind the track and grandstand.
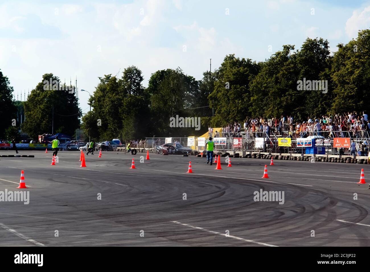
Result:
{"label": "row of tall dark green leafy trees behind the track and grandstand", "polygon": [[[370,110],[370,30],[359,31],[347,44],[338,44],[330,54],[329,42],[307,38],[299,49],[286,44],[265,61],[227,55],[221,66],[203,73],[201,80],[181,68],[158,70],[144,87],[141,70],[130,66],[118,77],[99,77],[89,100],[92,111],[80,123],[81,110],[74,94],[43,90],[43,81],[58,79],[43,75],[24,103],[26,122],[22,130],[32,137],[51,131],[73,134],[83,128],[95,141],[120,138],[200,135],[208,125],[218,127],[249,117],[280,117],[295,120],[308,116]],[[298,82],[324,81],[327,91],[299,88]],[[316,86],[317,87],[317,86]],[[13,88],[0,71],[0,137],[5,137],[16,116],[11,102]],[[212,109],[214,116],[212,116]],[[201,117],[201,128],[171,127],[171,117]]]}

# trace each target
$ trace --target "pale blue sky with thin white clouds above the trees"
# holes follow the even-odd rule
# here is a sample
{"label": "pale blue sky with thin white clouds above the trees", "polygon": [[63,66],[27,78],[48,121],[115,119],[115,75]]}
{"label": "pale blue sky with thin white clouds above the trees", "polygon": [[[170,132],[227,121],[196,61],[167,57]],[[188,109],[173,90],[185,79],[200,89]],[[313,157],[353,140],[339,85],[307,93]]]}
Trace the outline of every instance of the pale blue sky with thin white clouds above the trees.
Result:
{"label": "pale blue sky with thin white clouds above the trees", "polygon": [[[370,1],[2,0],[0,69],[16,94],[44,73],[67,82],[77,75],[78,88],[92,94],[98,77],[130,65],[144,85],[166,68],[201,79],[209,58],[212,70],[226,54],[263,61],[307,37],[327,39],[334,52],[369,27]],[[86,113],[88,94],[79,98]]]}

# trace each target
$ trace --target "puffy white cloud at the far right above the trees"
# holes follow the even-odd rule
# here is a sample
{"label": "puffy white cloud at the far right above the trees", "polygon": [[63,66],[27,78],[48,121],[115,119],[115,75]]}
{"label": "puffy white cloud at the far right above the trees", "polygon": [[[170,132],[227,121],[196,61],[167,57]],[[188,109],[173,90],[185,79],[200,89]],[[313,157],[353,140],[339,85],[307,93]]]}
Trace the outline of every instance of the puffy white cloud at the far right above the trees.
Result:
{"label": "puffy white cloud at the far right above the trees", "polygon": [[356,38],[360,29],[370,27],[370,6],[365,7],[361,12],[353,11],[351,18],[346,22],[346,34],[350,38]]}

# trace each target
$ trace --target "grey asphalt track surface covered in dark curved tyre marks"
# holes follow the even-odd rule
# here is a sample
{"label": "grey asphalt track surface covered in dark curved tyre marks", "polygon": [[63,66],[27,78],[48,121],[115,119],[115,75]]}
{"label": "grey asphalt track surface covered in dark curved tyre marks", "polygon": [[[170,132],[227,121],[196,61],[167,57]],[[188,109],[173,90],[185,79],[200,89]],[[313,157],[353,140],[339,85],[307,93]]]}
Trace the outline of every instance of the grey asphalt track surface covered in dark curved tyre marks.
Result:
{"label": "grey asphalt track surface covered in dark curved tyre marks", "polygon": [[[30,203],[0,202],[0,246],[370,245],[369,184],[356,184],[369,165],[275,160],[263,179],[267,159],[215,170],[195,156],[95,152],[81,168],[80,152],[55,166],[51,152],[20,155],[35,158],[0,158],[0,191],[16,191],[23,169]],[[285,203],[254,201],[260,189]]]}

